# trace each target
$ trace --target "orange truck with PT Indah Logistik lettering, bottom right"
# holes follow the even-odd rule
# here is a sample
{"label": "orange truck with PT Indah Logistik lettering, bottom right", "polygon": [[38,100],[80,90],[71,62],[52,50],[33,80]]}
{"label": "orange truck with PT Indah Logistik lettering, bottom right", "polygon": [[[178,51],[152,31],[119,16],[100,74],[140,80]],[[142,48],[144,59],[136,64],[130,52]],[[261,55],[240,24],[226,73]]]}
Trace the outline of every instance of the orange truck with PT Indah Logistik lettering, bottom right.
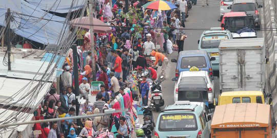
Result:
{"label": "orange truck with PT Indah Logistik lettering, bottom right", "polygon": [[275,126],[268,104],[219,105],[211,122],[211,138],[271,138]]}

